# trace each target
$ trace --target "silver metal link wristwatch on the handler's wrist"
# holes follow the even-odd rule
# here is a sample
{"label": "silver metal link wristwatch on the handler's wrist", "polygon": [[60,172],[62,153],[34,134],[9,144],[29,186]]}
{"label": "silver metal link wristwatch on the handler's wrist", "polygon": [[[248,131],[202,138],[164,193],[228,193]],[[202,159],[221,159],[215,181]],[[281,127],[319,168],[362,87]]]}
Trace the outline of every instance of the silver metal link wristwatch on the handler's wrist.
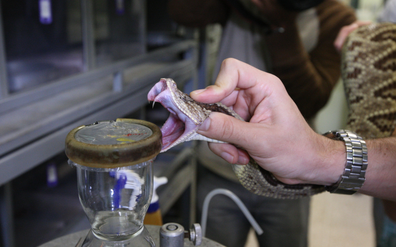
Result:
{"label": "silver metal link wristwatch on the handler's wrist", "polygon": [[367,145],[366,142],[356,133],[346,130],[333,130],[323,135],[332,139],[345,142],[347,150],[347,164],[344,173],[336,184],[326,186],[330,193],[352,195],[358,191],[364,183],[364,176],[367,169]]}

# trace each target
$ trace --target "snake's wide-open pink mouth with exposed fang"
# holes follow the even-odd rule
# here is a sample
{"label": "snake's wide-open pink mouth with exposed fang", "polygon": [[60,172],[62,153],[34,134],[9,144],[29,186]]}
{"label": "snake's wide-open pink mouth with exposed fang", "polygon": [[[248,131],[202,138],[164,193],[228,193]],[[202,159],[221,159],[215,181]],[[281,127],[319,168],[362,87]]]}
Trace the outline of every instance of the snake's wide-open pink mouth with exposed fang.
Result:
{"label": "snake's wide-open pink mouth with exposed fang", "polygon": [[190,137],[196,134],[198,130],[199,125],[196,125],[179,108],[185,97],[186,95],[179,91],[176,83],[170,79],[161,79],[148,92],[148,101],[159,102],[170,112],[169,118],[161,128],[161,152],[165,152],[181,142],[190,140]]}

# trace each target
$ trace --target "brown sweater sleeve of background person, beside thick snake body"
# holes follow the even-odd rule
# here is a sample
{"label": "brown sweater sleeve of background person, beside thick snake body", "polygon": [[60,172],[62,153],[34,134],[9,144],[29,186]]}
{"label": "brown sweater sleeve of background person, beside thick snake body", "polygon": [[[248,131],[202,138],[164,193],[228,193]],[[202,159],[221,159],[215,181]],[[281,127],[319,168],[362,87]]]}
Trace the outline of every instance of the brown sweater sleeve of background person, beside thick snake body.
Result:
{"label": "brown sweater sleeve of background person, beside thick snake body", "polygon": [[333,43],[340,29],[356,20],[353,9],[338,0],[325,0],[316,10],[319,37],[309,54],[302,45],[295,23],[286,27],[284,33],[267,37],[273,73],[284,83],[307,119],[326,104],[338,82],[341,56]]}

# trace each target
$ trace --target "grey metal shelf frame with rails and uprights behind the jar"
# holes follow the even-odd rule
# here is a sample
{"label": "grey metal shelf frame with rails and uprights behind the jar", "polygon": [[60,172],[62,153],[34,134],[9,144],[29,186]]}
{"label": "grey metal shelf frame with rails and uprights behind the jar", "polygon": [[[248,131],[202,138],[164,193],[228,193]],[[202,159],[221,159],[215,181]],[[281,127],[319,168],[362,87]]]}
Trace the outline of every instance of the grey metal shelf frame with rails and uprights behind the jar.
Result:
{"label": "grey metal shelf frame with rails and uprights behind the jar", "polygon": [[[49,98],[56,99],[59,95],[63,98],[75,97],[72,90],[78,88],[100,83],[103,84],[103,88],[109,88],[99,95],[87,98],[56,114],[48,114],[40,121],[30,122],[28,126],[22,126],[7,133],[0,132],[0,169],[2,170],[0,173],[0,234],[2,238],[0,246],[2,247],[15,246],[12,188],[9,182],[62,152],[65,137],[71,129],[98,120],[114,120],[141,109],[147,103],[149,89],[162,77],[173,78],[182,84],[193,82],[193,88],[197,88],[198,42],[195,40],[176,42],[143,55],[96,68],[92,0],[81,0],[81,10],[85,72],[49,82],[28,91],[11,94],[8,88],[0,6],[0,121],[10,113],[20,111],[23,114],[24,109],[26,111],[29,106]],[[145,28],[144,25],[142,28]],[[183,56],[180,56],[181,54]],[[153,71],[144,72],[137,69],[136,77],[125,77],[128,71],[142,64],[155,66],[153,66]],[[106,82],[104,78],[110,78],[110,81]],[[51,107],[50,104],[49,107]],[[6,121],[18,123],[17,119],[6,119]],[[187,171],[194,172],[194,162],[194,160],[191,161],[191,165],[183,169],[180,174],[183,175]],[[195,177],[192,177],[190,182],[195,190],[194,181]],[[191,200],[195,202],[195,198]],[[167,204],[168,207],[170,203]],[[195,212],[193,207],[191,211]],[[193,214],[192,217],[194,218],[195,215]]]}

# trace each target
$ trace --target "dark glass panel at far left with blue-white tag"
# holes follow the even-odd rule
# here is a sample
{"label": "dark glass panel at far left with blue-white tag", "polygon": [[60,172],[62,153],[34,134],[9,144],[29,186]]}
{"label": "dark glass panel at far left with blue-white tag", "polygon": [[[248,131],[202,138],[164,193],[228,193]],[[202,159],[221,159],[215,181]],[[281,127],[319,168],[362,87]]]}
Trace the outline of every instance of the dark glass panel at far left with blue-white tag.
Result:
{"label": "dark glass panel at far left with blue-white tag", "polygon": [[1,1],[10,92],[83,70],[79,0]]}

